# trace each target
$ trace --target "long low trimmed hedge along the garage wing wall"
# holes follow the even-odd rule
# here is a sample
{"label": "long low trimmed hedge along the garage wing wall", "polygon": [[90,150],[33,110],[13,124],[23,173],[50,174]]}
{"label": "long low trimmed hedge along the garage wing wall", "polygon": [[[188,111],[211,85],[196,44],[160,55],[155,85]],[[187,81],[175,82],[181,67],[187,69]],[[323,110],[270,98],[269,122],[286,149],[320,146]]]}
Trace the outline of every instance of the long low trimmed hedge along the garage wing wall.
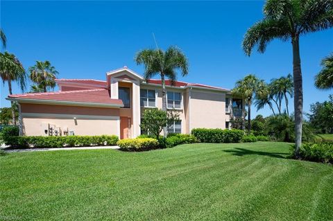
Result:
{"label": "long low trimmed hedge along the garage wing wall", "polygon": [[94,145],[117,145],[118,136],[7,136],[3,139],[11,148],[63,148]]}

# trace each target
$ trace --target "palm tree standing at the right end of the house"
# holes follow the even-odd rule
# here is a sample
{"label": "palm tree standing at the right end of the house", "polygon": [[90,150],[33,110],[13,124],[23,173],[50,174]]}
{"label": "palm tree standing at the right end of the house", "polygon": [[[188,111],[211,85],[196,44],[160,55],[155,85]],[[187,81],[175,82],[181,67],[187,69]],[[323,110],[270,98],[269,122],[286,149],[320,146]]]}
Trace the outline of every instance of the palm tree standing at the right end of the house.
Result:
{"label": "palm tree standing at the right end of the house", "polygon": [[264,80],[260,80],[253,74],[245,76],[245,78],[238,80],[234,89],[232,89],[232,96],[244,98],[248,105],[248,133],[251,130],[251,105],[253,98],[262,96],[265,90]]}

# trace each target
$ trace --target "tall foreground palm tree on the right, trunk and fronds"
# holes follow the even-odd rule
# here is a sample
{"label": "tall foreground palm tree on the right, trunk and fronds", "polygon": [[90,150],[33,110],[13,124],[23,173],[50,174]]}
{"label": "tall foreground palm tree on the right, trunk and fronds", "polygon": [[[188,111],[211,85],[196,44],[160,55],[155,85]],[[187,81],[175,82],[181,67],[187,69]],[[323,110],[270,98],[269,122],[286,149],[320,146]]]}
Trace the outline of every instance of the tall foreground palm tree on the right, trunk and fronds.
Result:
{"label": "tall foreground palm tree on the right, trunk and fronds", "polygon": [[325,30],[333,26],[333,1],[331,0],[268,0],[264,6],[264,19],[258,21],[246,32],[243,48],[250,56],[257,46],[264,53],[273,39],[291,39],[293,48],[293,85],[295,89],[295,156],[299,157],[302,143],[302,71],[300,67],[300,35]]}

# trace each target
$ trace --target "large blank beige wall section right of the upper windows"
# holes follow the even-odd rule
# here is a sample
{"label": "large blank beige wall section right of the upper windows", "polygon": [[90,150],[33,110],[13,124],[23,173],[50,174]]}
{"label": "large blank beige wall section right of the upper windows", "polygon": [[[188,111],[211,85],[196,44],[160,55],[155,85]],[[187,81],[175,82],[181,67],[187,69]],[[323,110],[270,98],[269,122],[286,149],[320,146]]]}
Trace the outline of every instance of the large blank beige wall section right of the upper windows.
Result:
{"label": "large blank beige wall section right of the upper windows", "polygon": [[225,93],[191,90],[189,129],[198,127],[225,129]]}

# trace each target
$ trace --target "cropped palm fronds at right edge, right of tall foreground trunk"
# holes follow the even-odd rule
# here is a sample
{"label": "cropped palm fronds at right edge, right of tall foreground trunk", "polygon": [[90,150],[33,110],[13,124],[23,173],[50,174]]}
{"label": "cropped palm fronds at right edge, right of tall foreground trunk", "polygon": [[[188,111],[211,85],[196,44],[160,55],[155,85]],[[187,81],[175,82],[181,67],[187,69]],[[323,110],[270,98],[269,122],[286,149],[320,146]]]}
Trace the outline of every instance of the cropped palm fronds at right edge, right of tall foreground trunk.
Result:
{"label": "cropped palm fronds at right edge, right of tall foreground trunk", "polygon": [[318,89],[333,89],[333,53],[321,61],[321,66],[314,85]]}

